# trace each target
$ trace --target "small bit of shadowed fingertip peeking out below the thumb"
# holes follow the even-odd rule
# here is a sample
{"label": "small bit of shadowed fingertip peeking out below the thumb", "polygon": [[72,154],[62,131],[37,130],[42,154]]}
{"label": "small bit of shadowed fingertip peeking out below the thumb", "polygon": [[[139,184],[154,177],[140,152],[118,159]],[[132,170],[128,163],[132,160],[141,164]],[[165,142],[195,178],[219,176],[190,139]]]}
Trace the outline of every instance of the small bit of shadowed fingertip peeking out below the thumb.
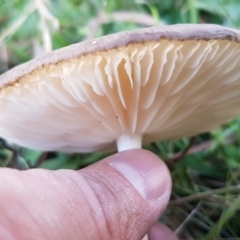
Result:
{"label": "small bit of shadowed fingertip peeking out below the thumb", "polygon": [[177,236],[166,225],[157,222],[148,233],[148,240],[178,240]]}

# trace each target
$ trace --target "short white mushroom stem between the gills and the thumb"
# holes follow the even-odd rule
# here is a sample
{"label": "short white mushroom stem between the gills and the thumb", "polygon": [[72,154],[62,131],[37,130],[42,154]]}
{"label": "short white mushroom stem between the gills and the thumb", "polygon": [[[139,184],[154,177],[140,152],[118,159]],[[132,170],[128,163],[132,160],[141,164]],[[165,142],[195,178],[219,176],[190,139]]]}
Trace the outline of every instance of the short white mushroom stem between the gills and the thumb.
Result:
{"label": "short white mushroom stem between the gills and the thumb", "polygon": [[142,136],[141,135],[121,135],[117,139],[118,152],[142,148]]}

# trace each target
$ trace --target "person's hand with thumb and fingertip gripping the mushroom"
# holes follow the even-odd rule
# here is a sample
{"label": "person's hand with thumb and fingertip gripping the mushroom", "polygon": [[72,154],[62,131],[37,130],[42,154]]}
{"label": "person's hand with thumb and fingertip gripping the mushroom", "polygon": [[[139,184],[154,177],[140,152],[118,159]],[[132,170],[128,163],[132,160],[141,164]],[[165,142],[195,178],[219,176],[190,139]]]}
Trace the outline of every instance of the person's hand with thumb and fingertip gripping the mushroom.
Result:
{"label": "person's hand with thumb and fingertip gripping the mushroom", "polygon": [[170,192],[165,164],[140,149],[80,171],[0,169],[0,239],[176,240],[154,225]]}

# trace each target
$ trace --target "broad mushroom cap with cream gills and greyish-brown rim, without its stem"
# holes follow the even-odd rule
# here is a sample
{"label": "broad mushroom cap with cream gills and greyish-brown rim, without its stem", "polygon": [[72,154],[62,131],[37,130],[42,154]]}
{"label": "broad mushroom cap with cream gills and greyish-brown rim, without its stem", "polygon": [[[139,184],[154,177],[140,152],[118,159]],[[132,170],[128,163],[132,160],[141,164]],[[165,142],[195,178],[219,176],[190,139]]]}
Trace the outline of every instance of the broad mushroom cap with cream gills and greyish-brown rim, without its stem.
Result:
{"label": "broad mushroom cap with cream gills and greyish-brown rim, without its stem", "polygon": [[73,44],[0,76],[0,135],[39,150],[116,149],[240,114],[240,31],[172,25]]}

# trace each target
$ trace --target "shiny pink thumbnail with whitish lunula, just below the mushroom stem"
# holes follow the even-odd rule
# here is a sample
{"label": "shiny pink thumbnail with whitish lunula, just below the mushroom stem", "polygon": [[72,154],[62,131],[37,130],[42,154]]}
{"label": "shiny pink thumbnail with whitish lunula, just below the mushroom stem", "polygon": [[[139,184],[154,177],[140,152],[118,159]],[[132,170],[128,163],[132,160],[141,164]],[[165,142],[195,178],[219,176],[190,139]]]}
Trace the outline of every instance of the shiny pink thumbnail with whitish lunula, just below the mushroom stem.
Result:
{"label": "shiny pink thumbnail with whitish lunula, just below the mushroom stem", "polygon": [[158,156],[147,150],[134,149],[120,152],[108,161],[143,198],[152,201],[161,199],[167,205],[171,176],[166,164]]}

